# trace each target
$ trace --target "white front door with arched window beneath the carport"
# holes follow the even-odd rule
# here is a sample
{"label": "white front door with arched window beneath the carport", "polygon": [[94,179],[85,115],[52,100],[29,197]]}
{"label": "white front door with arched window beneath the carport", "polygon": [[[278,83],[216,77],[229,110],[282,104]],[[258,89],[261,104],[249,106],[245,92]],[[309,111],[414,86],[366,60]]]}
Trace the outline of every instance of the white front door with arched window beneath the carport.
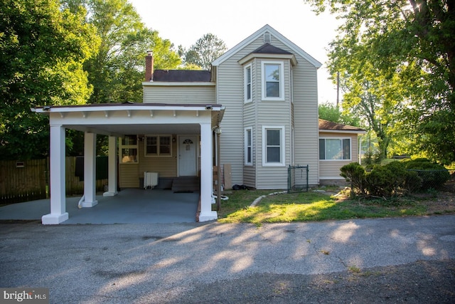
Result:
{"label": "white front door with arched window beneath the carport", "polygon": [[181,136],[178,140],[178,170],[181,177],[196,177],[198,137]]}

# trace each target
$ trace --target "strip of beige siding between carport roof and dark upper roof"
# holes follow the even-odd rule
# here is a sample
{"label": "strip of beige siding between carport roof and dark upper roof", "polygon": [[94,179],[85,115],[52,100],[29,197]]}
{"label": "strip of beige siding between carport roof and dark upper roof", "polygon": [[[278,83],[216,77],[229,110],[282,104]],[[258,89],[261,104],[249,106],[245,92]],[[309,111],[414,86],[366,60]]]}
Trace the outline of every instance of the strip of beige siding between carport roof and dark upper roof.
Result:
{"label": "strip of beige siding between carport roof and dark upper roof", "polygon": [[215,103],[215,87],[200,85],[146,85],[144,103]]}

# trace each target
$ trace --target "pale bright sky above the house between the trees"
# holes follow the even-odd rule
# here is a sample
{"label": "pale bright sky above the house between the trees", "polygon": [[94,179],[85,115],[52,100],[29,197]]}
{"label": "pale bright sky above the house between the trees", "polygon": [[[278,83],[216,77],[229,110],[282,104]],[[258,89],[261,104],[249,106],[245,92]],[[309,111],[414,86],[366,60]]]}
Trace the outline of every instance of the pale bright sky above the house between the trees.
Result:
{"label": "pale bright sky above the house between the trees", "polygon": [[319,103],[336,103],[336,85],[328,80],[326,48],[338,21],[316,16],[304,0],[129,0],[148,28],[174,46],[189,48],[206,33],[234,47],[269,24],[323,65],[318,70]]}

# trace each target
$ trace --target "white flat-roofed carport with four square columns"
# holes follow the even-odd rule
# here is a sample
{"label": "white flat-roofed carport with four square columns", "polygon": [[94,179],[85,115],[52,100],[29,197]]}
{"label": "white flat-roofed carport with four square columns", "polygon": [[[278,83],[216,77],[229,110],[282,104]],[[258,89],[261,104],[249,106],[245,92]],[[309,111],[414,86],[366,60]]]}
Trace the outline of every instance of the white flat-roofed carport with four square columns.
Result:
{"label": "white flat-roofed carport with four square columns", "polygon": [[212,211],[213,130],[223,119],[222,105],[109,103],[97,105],[44,106],[31,109],[49,115],[50,123],[50,213],[43,224],[60,224],[69,219],[65,198],[65,130],[85,132],[84,195],[80,206],[98,204],[95,192],[96,136],[109,136],[108,191],[117,195],[117,139],[129,134],[200,135],[200,215],[199,221],[217,219]]}

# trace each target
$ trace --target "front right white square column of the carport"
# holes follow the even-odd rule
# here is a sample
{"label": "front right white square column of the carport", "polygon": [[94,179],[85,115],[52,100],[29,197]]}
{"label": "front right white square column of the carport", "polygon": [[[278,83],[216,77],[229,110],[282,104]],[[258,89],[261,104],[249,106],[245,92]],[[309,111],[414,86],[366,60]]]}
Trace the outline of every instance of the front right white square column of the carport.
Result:
{"label": "front right white square column of the carport", "polygon": [[212,126],[200,123],[200,215],[199,221],[218,219],[216,211],[212,211]]}

